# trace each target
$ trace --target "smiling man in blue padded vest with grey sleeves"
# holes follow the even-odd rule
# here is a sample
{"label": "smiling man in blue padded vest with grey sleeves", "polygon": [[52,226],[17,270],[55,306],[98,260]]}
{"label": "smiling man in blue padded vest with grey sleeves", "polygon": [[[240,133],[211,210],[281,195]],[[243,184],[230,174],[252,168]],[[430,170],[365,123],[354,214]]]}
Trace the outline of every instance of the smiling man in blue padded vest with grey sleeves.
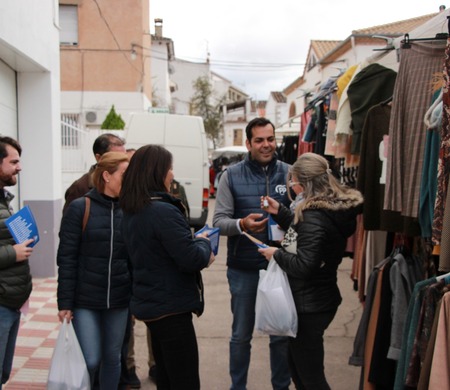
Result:
{"label": "smiling man in blue padded vest with grey sleeves", "polygon": [[[267,214],[261,212],[261,196],[269,195],[289,206],[286,177],[289,165],[275,156],[275,127],[255,118],[246,127],[245,159],[223,173],[217,190],[213,225],[228,236],[227,278],[233,313],[230,339],[231,390],[245,390],[255,325],[255,302],[259,270],[267,260],[242,232],[267,243]],[[287,337],[270,336],[270,365],[274,390],[290,384]]]}

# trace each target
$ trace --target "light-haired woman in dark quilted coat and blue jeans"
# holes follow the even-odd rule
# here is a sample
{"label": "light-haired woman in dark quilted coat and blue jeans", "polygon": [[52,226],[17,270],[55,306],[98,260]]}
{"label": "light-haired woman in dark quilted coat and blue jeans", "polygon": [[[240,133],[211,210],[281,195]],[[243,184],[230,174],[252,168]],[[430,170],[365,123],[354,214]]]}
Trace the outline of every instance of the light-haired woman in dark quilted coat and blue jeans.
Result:
{"label": "light-haired woman in dark quilted coat and blue jeans", "polygon": [[123,152],[102,155],[92,174],[94,188],[70,203],[61,221],[58,317],[73,321],[91,387],[117,389],[128,319],[131,276],[122,238],[119,193],[128,167]]}

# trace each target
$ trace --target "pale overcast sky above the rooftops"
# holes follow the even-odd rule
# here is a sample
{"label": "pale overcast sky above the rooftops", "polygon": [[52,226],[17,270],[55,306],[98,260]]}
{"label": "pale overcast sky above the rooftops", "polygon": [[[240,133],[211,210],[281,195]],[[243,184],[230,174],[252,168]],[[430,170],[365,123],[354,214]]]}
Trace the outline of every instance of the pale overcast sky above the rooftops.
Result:
{"label": "pale overcast sky above the rooftops", "polygon": [[205,62],[255,100],[303,74],[311,40],[439,11],[434,0],[150,0],[150,31],[163,19],[175,57]]}

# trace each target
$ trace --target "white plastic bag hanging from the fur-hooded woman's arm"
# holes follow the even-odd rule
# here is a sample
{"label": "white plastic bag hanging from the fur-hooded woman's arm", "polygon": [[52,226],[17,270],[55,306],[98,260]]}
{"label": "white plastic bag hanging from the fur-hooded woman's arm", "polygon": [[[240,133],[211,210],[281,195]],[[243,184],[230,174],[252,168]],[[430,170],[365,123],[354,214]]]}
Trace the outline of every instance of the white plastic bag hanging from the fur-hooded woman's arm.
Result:
{"label": "white plastic bag hanging from the fur-hooded woman's arm", "polygon": [[286,272],[272,258],[259,271],[256,293],[255,329],[271,336],[297,335],[297,310]]}

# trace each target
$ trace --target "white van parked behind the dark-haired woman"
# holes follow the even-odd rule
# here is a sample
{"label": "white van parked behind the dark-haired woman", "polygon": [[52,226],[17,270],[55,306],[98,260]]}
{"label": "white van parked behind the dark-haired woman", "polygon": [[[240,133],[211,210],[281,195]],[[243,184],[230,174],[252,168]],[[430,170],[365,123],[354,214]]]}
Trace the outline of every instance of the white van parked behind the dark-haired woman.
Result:
{"label": "white van parked behind the dark-haired woman", "polygon": [[173,155],[175,179],[186,190],[190,225],[196,229],[208,216],[208,148],[203,119],[198,116],[133,113],[125,132],[126,147],[164,146]]}

